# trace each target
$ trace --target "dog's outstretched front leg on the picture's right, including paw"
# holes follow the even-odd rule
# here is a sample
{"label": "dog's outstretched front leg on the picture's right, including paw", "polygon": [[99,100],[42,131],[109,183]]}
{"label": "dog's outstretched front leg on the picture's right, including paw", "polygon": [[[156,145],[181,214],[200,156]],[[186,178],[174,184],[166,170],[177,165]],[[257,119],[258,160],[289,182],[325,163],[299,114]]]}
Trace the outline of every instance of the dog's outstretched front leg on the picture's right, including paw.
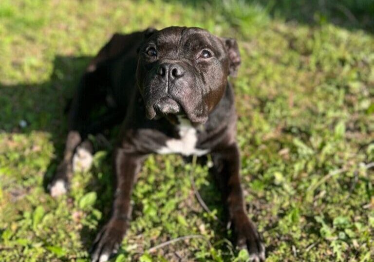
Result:
{"label": "dog's outstretched front leg on the picture's right, including paw", "polygon": [[214,163],[212,171],[222,191],[223,202],[238,247],[247,248],[251,261],[264,261],[265,248],[261,236],[245,212],[237,144],[220,146],[211,156]]}

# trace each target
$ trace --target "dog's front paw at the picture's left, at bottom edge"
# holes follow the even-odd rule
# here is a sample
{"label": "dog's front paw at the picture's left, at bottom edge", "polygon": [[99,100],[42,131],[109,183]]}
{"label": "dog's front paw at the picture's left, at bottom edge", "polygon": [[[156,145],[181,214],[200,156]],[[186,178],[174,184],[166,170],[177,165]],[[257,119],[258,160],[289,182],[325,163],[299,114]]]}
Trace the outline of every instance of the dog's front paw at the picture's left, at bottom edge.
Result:
{"label": "dog's front paw at the picture's left, at bottom edge", "polygon": [[127,223],[125,221],[112,219],[108,222],[93,242],[92,262],[106,262],[115,255],[125,236],[126,229]]}

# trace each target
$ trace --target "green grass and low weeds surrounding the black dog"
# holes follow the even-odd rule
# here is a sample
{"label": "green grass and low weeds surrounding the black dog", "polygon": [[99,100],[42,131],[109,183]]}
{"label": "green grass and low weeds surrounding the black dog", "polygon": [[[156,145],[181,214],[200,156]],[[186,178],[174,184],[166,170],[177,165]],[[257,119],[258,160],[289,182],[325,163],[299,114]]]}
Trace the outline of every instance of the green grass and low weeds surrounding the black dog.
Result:
{"label": "green grass and low weeds surrounding the black dog", "polygon": [[[97,146],[92,171],[76,174],[67,196],[52,199],[43,183],[61,157],[64,108],[87,57],[114,32],[150,25],[200,26],[239,41],[243,63],[232,81],[242,181],[267,261],[373,261],[374,171],[366,165],[374,162],[374,4],[341,1],[351,23],[330,1],[302,2],[301,10],[288,0],[1,0],[0,261],[89,261],[111,208],[111,146]],[[245,261],[195,200],[191,170],[222,217],[206,166],[151,156],[113,262]],[[147,252],[195,234],[205,239]]]}

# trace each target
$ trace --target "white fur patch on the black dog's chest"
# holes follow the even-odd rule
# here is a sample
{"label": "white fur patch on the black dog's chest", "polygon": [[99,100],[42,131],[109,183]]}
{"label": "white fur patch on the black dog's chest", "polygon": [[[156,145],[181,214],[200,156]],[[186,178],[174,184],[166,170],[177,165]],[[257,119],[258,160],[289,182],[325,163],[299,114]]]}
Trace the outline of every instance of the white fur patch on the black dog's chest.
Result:
{"label": "white fur patch on the black dog's chest", "polygon": [[197,131],[191,125],[191,122],[184,119],[179,119],[179,136],[180,139],[169,139],[165,146],[159,148],[156,152],[158,154],[182,154],[184,156],[197,155],[202,156],[209,152],[207,149],[196,148]]}

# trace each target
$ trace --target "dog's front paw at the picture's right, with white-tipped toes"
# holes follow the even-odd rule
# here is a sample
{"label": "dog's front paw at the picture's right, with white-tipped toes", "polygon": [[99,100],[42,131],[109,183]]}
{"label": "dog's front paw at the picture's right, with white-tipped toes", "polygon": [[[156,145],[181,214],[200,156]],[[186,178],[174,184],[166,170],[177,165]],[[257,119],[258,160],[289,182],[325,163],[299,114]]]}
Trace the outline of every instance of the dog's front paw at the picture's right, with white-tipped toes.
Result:
{"label": "dog's front paw at the picture's right, with white-tipped toes", "polygon": [[253,222],[244,212],[238,214],[233,222],[238,248],[248,250],[251,262],[265,261],[265,245]]}

